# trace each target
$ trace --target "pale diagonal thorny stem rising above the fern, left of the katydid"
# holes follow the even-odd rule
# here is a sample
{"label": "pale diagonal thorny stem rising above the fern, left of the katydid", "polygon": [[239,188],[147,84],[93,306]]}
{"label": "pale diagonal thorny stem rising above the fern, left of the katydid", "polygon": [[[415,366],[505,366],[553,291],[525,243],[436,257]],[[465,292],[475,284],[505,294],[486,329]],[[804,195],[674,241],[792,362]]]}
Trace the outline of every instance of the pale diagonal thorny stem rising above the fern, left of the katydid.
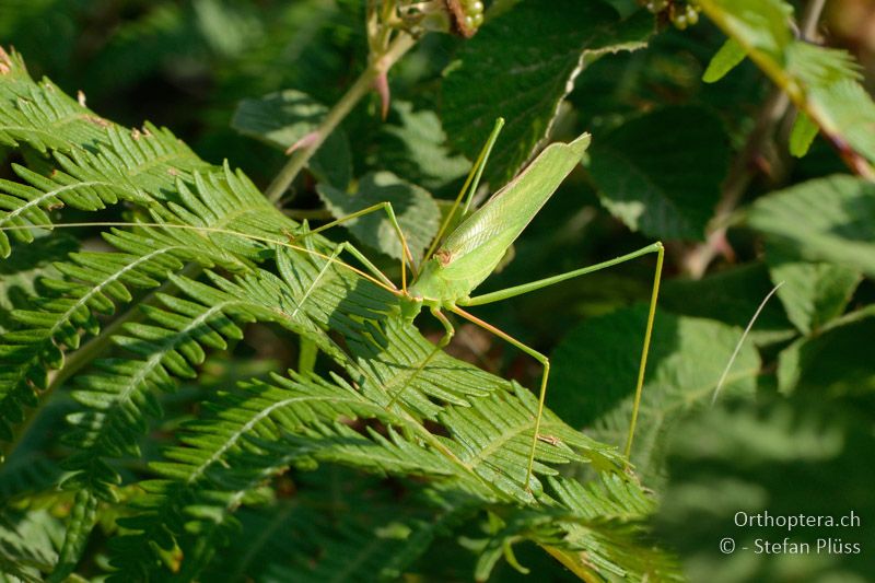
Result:
{"label": "pale diagonal thorny stem rising above the fern, left of the katydid", "polygon": [[316,150],[319,149],[361,98],[373,89],[374,81],[381,74],[385,74],[413,45],[416,45],[416,38],[407,33],[399,33],[382,56],[372,59],[368,68],[359,75],[359,79],[325,116],[323,123],[315,130],[313,140],[295,150],[279,174],[277,174],[277,177],[273,178],[273,182],[270,183],[270,186],[265,191],[268,200],[277,202],[280,199],[310,159],[313,158],[313,154],[316,153]]}

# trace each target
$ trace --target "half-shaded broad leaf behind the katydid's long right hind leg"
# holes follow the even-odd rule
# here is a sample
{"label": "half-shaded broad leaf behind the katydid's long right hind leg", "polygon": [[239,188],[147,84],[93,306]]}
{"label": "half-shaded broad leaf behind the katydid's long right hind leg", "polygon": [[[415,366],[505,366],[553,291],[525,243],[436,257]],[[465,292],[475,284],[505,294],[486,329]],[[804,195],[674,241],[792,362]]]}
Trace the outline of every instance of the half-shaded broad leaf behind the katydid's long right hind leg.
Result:
{"label": "half-shaded broad leaf behind the katydid's long right hind leg", "polygon": [[[569,333],[551,359],[550,407],[570,424],[586,428],[587,435],[622,447],[645,325],[646,308],[640,305]],[[665,433],[681,415],[711,404],[740,337],[740,329],[725,324],[657,312],[631,455],[648,483],[662,478]],[[742,346],[720,398],[752,394],[759,365],[754,346]]]}

